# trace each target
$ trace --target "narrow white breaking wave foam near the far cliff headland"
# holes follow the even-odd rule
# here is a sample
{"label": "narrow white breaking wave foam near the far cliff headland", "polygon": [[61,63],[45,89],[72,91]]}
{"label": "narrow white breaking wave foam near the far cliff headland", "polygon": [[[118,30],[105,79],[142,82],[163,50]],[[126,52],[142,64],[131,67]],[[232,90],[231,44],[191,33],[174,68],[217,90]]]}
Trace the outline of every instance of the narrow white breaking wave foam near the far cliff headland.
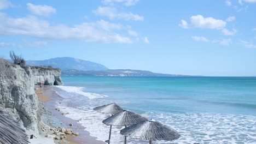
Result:
{"label": "narrow white breaking wave foam near the far cliff headland", "polygon": [[107,95],[103,95],[103,94],[84,92],[83,91],[84,87],[72,87],[72,86],[55,86],[55,87],[60,88],[63,91],[66,91],[69,93],[84,95],[85,97],[88,97],[89,99],[108,97]]}

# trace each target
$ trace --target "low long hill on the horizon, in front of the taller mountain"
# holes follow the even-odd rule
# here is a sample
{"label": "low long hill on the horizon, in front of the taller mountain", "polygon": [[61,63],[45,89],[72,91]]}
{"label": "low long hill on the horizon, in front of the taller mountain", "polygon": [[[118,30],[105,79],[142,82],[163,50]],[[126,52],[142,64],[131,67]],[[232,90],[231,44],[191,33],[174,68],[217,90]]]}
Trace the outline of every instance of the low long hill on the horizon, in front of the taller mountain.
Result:
{"label": "low long hill on the horizon, in front of the taller mountain", "polygon": [[108,70],[63,70],[62,76],[185,76],[153,73],[147,70],[131,70],[131,69],[108,69]]}

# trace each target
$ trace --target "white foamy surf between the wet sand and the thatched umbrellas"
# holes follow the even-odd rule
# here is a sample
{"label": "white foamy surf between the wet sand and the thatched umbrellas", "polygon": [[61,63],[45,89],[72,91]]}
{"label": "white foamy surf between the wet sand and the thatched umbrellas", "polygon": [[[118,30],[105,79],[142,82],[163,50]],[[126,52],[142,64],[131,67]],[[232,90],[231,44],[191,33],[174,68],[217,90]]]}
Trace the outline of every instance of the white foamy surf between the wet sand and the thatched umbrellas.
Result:
{"label": "white foamy surf between the wet sand and the thatched umbrellas", "polygon": [[[88,109],[87,107],[67,107],[64,106],[64,103],[58,104],[57,107],[62,112],[68,112],[68,115],[65,115],[68,118],[72,118],[78,123],[82,124],[85,127],[86,131],[89,131],[90,136],[97,137],[97,140],[105,141],[108,140],[109,135],[109,125],[105,125],[102,123],[103,119],[109,117],[104,113],[96,112],[94,110]],[[124,143],[124,136],[120,134],[120,130],[124,127],[112,127],[111,133],[111,143]],[[130,144],[135,143],[148,143],[148,141],[137,142],[138,140],[133,140],[127,137],[127,142]]]}

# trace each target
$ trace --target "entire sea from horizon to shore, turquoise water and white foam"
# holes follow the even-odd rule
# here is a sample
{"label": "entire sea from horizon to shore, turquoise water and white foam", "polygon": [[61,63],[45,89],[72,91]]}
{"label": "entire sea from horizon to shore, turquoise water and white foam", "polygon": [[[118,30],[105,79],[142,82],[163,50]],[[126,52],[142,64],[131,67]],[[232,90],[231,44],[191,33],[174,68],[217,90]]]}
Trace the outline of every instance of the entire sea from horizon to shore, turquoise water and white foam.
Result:
{"label": "entire sea from horizon to shore, turquoise water and white foam", "polygon": [[[97,140],[108,140],[109,115],[93,110],[117,103],[178,131],[174,141],[153,143],[256,143],[256,77],[62,76],[56,106]],[[111,143],[123,143],[112,127]],[[128,138],[127,143],[148,143]]]}

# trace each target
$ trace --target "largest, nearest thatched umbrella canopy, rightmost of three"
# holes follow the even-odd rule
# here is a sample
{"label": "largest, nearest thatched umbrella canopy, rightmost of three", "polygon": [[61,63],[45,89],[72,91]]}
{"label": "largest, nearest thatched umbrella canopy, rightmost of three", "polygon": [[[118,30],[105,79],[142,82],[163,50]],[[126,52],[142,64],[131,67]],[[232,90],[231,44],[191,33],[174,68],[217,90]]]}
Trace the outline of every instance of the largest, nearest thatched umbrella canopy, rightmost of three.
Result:
{"label": "largest, nearest thatched umbrella canopy, rightmost of three", "polygon": [[173,141],[181,136],[178,131],[161,124],[154,119],[131,125],[120,131],[122,135],[132,137],[134,139],[152,141]]}

